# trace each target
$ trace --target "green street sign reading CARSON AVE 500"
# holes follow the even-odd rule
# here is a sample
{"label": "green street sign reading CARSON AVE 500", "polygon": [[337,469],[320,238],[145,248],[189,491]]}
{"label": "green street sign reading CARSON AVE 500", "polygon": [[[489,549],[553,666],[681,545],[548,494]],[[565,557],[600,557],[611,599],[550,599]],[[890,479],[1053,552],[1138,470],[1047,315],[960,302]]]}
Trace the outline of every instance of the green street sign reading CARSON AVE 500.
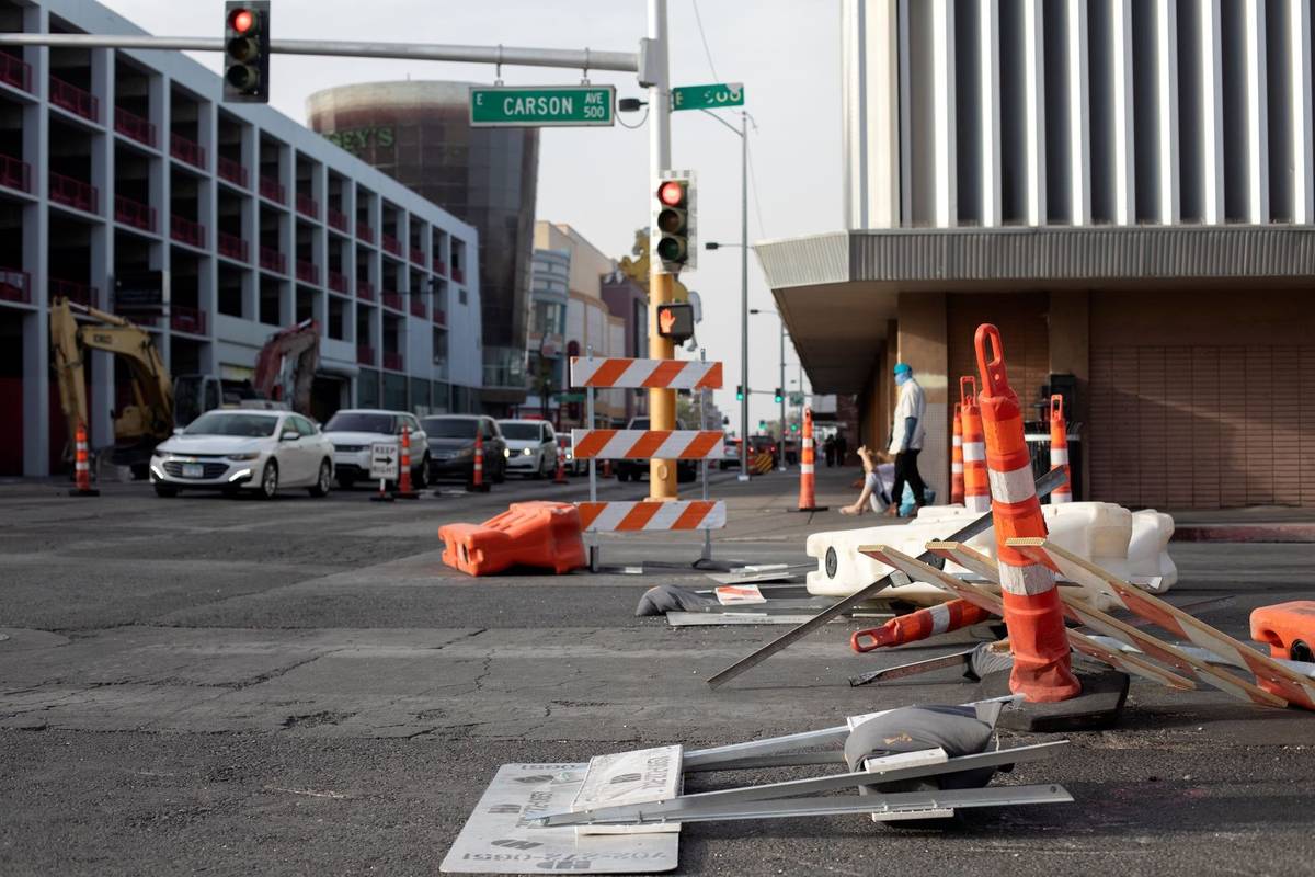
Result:
{"label": "green street sign reading CARSON AVE 500", "polygon": [[471,128],[610,126],[614,85],[471,87]]}

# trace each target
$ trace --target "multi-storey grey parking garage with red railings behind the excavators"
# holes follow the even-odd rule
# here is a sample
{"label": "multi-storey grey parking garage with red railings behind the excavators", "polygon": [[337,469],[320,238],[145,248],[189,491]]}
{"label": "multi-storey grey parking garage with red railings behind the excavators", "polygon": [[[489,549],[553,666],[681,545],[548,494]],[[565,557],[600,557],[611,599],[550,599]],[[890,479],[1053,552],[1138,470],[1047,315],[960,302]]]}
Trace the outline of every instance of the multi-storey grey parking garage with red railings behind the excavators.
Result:
{"label": "multi-storey grey parking garage with red railings behind the excavators", "polygon": [[[85,0],[4,0],[0,29],[143,33]],[[314,318],[320,417],[477,398],[476,229],[281,113],[221,95],[181,53],[0,51],[0,473],[60,468],[50,301],[113,310],[114,276],[138,270],[168,277],[170,313],[147,329],[172,373],[249,377],[271,333]],[[99,447],[113,440],[125,369],[96,352],[88,371]]]}

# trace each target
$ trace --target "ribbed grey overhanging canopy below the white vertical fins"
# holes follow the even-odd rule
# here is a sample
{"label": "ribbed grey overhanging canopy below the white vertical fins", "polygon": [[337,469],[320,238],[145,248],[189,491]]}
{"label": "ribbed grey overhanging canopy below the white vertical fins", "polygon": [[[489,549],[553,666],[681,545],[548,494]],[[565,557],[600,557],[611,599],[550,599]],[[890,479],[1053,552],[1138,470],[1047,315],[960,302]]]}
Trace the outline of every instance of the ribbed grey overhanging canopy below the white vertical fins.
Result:
{"label": "ribbed grey overhanging canopy below the white vertical fins", "polygon": [[753,246],[814,389],[856,393],[898,293],[1311,283],[1315,226],[836,231]]}

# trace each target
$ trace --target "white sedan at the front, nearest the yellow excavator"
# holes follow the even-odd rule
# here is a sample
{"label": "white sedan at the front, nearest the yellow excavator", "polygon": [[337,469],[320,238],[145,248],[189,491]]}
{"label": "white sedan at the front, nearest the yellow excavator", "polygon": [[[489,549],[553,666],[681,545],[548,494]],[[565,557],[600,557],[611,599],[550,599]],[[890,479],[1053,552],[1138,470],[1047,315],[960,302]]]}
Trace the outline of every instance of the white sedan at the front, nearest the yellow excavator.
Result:
{"label": "white sedan at the front, nearest the yellow excavator", "polygon": [[329,493],[334,448],[308,418],[292,412],[216,409],[201,414],[151,454],[155,493],[255,490],[272,500],[279,488]]}

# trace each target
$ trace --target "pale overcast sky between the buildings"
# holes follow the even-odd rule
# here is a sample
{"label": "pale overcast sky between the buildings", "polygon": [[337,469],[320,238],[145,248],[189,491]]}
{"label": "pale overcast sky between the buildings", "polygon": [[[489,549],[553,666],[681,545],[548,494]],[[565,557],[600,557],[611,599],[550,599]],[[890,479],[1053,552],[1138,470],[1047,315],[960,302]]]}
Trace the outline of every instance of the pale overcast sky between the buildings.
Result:
{"label": "pale overcast sky between the buildings", "polygon": [[[218,0],[101,0],[158,36],[222,33]],[[742,82],[751,131],[750,241],[842,226],[840,33],[836,0],[697,0],[711,63],[700,39],[696,0],[668,0],[673,85]],[[644,0],[275,0],[271,33],[287,39],[375,39],[458,45],[540,46],[630,51],[647,28]],[[217,53],[197,59],[218,72]],[[493,68],[404,60],[275,57],[271,104],[305,121],[305,99],[321,88],[389,79],[492,82]],[[618,96],[643,97],[631,74],[590,72]],[[573,84],[568,70],[504,67],[508,84]],[[723,117],[738,124],[730,110]],[[622,116],[635,124],[643,113]],[[629,252],[634,230],[648,222],[648,129],[546,129],[540,133],[540,220],[567,222],[614,258]],[[701,241],[735,242],[739,221],[739,138],[697,112],[672,116],[672,166],[698,172]],[[682,275],[704,300],[700,341],[709,359],[727,366],[729,389],[718,393],[736,429],[739,383],[739,251],[701,251],[700,267]],[[750,255],[750,306],[775,302]],[[775,316],[750,317],[750,383],[771,392],[778,383]],[[798,359],[786,347],[786,380]],[[751,397],[751,427],[775,419],[771,396]]]}

